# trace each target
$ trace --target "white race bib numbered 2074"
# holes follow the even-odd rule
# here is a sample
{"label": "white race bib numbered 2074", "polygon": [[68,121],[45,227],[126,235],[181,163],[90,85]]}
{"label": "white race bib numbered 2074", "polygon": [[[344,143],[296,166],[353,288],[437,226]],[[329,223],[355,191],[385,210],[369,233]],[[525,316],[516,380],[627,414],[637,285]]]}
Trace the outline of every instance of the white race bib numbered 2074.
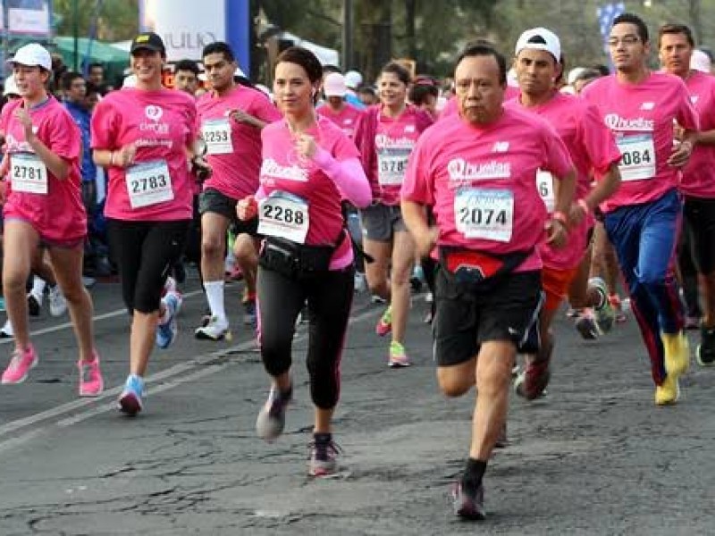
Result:
{"label": "white race bib numbered 2074", "polygon": [[454,218],[457,230],[467,239],[509,242],[514,194],[504,189],[460,189],[454,197]]}

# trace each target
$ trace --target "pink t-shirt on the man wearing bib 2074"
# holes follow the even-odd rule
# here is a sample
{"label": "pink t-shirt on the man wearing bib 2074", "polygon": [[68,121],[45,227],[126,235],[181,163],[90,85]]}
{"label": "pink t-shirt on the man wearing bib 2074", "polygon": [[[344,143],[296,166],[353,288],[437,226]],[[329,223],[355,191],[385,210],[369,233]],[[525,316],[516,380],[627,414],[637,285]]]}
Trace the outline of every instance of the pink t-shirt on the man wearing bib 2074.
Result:
{"label": "pink t-shirt on the man wearing bib 2074", "polygon": [[[543,239],[546,223],[536,171],[563,177],[571,168],[558,134],[533,114],[505,109],[484,128],[455,115],[417,142],[402,198],[433,205],[439,245],[497,255],[526,251]],[[534,249],[518,270],[540,267]]]}

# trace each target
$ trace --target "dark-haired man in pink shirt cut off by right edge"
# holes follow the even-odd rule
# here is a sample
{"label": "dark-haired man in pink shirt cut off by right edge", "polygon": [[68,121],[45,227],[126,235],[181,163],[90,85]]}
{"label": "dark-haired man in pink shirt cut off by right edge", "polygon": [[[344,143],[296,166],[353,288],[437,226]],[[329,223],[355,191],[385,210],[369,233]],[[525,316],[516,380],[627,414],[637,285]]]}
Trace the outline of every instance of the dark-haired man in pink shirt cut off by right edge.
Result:
{"label": "dark-haired man in pink shirt cut off by right edge", "polygon": [[[701,344],[695,359],[701,366],[711,366],[715,364],[715,78],[690,68],[695,42],[687,26],[660,27],[658,41],[660,63],[686,83],[700,119],[701,131],[683,168],[680,190],[686,196],[686,232],[702,292]],[[676,130],[676,136],[682,136],[681,130]]]}

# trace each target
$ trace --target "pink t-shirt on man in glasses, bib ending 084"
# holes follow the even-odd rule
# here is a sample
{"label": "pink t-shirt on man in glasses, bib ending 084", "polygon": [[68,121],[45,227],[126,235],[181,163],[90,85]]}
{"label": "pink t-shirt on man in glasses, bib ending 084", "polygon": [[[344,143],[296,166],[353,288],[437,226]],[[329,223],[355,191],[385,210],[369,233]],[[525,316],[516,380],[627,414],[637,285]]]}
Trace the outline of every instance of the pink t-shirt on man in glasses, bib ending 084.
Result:
{"label": "pink t-shirt on man in glasses, bib ending 084", "polygon": [[679,171],[668,164],[673,121],[686,130],[698,130],[683,80],[652,72],[643,82],[625,84],[610,75],[593,80],[581,95],[598,107],[623,155],[618,164],[622,182],[601,205],[604,212],[648,203],[677,186]]}

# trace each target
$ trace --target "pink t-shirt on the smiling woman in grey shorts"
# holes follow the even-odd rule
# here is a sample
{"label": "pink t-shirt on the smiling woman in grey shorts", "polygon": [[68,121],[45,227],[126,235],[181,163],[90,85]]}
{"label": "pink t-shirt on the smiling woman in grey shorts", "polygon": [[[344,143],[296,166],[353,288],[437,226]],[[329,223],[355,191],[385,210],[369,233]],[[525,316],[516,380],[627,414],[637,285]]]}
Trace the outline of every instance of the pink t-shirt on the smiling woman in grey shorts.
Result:
{"label": "pink t-shirt on the smiling woman in grey shorts", "polygon": [[387,117],[382,107],[366,113],[378,113],[374,147],[377,158],[367,172],[373,198],[383,205],[400,205],[400,188],[408,168],[409,155],[422,131],[416,121],[416,108],[408,106],[399,117]]}

